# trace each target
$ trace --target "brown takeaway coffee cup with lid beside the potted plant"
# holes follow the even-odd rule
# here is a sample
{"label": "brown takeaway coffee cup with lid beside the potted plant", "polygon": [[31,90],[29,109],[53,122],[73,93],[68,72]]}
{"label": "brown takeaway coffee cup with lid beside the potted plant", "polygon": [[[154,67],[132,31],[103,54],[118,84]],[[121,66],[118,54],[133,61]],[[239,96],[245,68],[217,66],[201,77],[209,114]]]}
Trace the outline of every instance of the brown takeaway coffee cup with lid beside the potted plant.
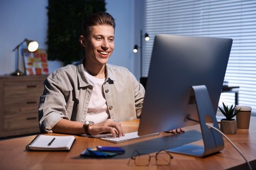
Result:
{"label": "brown takeaway coffee cup with lid beside the potted plant", "polygon": [[251,107],[236,105],[236,122],[238,129],[249,129]]}

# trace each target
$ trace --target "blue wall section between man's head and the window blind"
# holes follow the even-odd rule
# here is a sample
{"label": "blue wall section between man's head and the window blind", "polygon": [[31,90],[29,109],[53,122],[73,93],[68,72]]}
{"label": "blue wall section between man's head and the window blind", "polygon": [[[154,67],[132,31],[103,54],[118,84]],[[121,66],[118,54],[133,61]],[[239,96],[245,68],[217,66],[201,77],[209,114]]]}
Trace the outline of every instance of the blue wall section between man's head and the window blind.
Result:
{"label": "blue wall section between man's head and the window blind", "polygon": [[134,46],[134,1],[106,0],[107,12],[116,19],[115,50],[109,63],[127,67],[136,75]]}

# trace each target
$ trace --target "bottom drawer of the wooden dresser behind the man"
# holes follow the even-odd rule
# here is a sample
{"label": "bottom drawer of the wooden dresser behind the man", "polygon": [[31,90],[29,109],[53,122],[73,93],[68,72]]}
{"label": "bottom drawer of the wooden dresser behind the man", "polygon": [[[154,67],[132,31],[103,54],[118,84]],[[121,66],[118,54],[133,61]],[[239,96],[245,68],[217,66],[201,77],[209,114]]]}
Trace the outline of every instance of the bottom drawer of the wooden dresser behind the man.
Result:
{"label": "bottom drawer of the wooden dresser behind the man", "polygon": [[22,129],[38,129],[37,113],[17,113],[9,114],[4,117],[4,129],[6,131],[22,130]]}

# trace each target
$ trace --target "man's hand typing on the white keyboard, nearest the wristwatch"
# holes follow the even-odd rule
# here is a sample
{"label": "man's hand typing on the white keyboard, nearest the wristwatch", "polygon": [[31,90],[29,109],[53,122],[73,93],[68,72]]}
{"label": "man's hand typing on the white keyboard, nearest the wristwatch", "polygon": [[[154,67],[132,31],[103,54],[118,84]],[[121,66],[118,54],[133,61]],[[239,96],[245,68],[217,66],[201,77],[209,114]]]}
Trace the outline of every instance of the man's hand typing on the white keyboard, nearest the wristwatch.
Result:
{"label": "man's hand typing on the white keyboard, nearest the wristwatch", "polygon": [[111,119],[105,120],[104,122],[100,122],[98,124],[94,124],[93,126],[89,126],[88,132],[90,135],[98,135],[100,133],[110,132],[112,133],[113,137],[121,137],[125,135],[121,124]]}

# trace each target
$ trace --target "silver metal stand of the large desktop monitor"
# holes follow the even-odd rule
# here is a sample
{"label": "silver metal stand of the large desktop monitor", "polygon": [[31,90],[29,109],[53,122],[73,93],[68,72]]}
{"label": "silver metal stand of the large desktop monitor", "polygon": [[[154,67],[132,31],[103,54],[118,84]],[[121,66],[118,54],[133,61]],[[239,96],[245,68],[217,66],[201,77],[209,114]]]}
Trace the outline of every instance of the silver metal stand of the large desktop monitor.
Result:
{"label": "silver metal stand of the large desktop monitor", "polygon": [[[171,148],[169,151],[190,156],[203,157],[223,150],[224,142],[223,137],[219,132],[205,125],[205,118],[210,116],[213,126],[219,129],[206,86],[192,86],[192,90],[194,91],[196,107],[198,109],[199,121],[196,120],[196,122],[199,122],[201,127],[203,146],[196,144],[185,144],[177,148]],[[187,119],[192,120],[189,118],[189,116]]]}

